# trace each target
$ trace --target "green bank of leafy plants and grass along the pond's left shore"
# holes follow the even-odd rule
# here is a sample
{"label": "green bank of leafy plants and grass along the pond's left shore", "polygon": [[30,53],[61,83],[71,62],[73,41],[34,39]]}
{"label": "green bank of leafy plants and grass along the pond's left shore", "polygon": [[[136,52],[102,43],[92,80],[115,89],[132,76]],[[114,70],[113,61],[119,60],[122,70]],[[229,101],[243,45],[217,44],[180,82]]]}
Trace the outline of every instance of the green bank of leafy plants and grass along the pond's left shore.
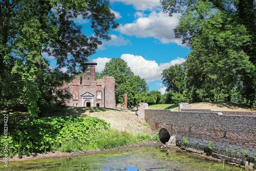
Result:
{"label": "green bank of leafy plants and grass along the pond's left shore", "polygon": [[[8,124],[8,155],[30,155],[54,151],[108,149],[139,141],[157,140],[150,134],[133,134],[111,129],[110,124],[95,117],[53,116]],[[1,143],[5,142],[1,136]],[[5,146],[0,147],[4,157]]]}

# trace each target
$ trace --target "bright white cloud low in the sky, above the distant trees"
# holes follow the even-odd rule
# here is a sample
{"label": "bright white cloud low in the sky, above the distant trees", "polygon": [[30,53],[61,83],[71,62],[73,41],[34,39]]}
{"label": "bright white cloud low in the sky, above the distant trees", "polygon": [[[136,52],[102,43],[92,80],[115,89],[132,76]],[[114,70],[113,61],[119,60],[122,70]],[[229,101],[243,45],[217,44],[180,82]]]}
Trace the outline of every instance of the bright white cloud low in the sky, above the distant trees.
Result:
{"label": "bright white cloud low in the sky, above the distant trees", "polygon": [[168,63],[158,63],[155,60],[146,60],[142,56],[132,54],[122,54],[121,59],[127,62],[127,65],[131,68],[135,75],[139,75],[145,79],[146,82],[161,80],[162,70],[175,65],[176,63],[182,63],[185,61],[184,58],[177,58]]}

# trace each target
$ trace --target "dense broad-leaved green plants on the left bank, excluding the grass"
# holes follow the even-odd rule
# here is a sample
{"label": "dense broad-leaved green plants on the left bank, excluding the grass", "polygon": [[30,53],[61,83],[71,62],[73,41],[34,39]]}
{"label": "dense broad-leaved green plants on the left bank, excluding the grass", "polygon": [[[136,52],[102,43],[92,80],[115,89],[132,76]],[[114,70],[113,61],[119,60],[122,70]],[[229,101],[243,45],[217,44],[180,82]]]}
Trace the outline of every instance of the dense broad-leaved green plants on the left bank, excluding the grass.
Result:
{"label": "dense broad-leaved green plants on the left bank, excluding the grass", "polygon": [[[45,117],[9,123],[9,149],[14,154],[49,152],[54,146],[92,141],[99,130],[109,129],[104,120],[93,117]],[[4,138],[1,137],[1,142]],[[3,155],[3,149],[1,149]]]}

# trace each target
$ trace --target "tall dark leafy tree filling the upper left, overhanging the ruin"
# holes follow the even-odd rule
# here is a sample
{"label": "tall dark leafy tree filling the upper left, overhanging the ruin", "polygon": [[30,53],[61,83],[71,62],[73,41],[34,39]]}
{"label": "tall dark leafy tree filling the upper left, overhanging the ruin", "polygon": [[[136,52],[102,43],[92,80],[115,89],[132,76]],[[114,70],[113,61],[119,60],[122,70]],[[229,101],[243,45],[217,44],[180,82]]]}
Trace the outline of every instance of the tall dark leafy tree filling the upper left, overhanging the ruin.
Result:
{"label": "tall dark leafy tree filling the upper left, overhanging the ruin", "polygon": [[[92,35],[74,22],[79,15],[90,21]],[[56,88],[84,70],[83,62],[117,28],[114,19],[107,0],[1,0],[0,105],[22,102],[33,117],[41,104],[68,99],[67,90]],[[56,59],[55,69],[42,52]]]}

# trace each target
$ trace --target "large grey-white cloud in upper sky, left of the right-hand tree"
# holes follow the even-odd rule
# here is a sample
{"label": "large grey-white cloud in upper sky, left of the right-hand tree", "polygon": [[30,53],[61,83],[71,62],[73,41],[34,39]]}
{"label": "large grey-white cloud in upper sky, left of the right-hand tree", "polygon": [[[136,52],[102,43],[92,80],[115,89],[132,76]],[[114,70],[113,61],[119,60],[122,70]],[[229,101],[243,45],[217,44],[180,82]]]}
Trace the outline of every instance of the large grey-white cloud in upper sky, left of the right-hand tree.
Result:
{"label": "large grey-white cloud in upper sky, left of the right-hand tree", "polygon": [[137,18],[134,23],[120,25],[118,31],[136,37],[154,37],[163,44],[173,42],[181,45],[182,40],[175,38],[173,31],[178,24],[178,16],[178,14],[174,14],[170,17],[166,13],[153,11],[148,16]]}

